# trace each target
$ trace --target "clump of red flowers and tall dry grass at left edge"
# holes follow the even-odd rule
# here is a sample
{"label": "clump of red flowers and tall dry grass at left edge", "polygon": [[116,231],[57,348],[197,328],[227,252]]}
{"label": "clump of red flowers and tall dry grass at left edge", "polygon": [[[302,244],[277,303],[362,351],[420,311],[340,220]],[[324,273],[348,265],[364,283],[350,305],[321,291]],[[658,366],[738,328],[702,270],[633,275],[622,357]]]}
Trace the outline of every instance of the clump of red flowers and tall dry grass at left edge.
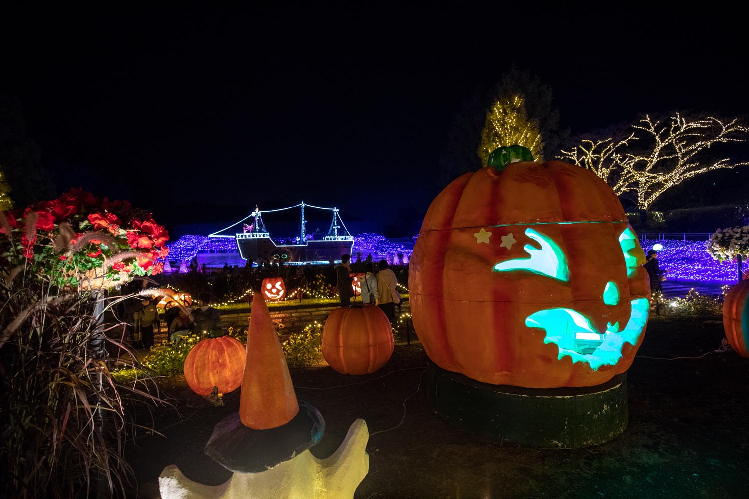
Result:
{"label": "clump of red flowers and tall dry grass at left edge", "polygon": [[124,325],[104,290],[158,274],[166,230],[74,190],[0,212],[0,233],[0,497],[124,495],[126,414],[160,401],[147,380],[112,375],[139,363],[106,336]]}

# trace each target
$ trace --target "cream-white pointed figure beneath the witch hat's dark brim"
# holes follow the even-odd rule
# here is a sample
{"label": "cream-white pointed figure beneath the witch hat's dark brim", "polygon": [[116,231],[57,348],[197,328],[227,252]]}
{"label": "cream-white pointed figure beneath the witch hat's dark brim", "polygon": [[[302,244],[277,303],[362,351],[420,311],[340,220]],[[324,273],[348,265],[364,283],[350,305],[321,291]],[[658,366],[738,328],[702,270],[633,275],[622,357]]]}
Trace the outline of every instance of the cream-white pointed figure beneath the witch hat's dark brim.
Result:
{"label": "cream-white pointed figure beneath the witch hat's dark brim", "polygon": [[164,468],[159,477],[163,499],[344,499],[354,491],[369,471],[366,445],[367,424],[357,419],[332,456],[317,459],[305,450],[299,456],[280,462],[265,471],[242,473],[218,486],[193,482],[175,465]]}

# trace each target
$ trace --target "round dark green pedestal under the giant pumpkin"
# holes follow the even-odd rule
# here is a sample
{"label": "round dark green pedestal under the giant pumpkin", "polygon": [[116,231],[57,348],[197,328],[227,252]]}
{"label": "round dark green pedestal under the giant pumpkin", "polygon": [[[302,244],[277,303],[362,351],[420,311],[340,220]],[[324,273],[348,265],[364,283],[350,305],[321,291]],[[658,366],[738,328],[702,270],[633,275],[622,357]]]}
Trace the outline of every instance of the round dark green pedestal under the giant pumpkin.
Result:
{"label": "round dark green pedestal under the giant pumpkin", "polygon": [[603,444],[627,427],[627,374],[583,388],[521,388],[477,382],[429,362],[427,400],[449,423],[533,447]]}

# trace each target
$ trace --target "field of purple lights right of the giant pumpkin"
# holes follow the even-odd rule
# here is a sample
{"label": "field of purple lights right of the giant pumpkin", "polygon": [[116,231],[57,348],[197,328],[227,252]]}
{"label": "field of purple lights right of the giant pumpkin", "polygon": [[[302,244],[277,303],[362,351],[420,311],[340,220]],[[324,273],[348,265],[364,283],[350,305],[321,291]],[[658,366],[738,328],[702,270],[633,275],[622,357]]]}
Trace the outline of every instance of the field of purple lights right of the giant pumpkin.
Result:
{"label": "field of purple lights right of the giant pumpkin", "polygon": [[713,260],[705,250],[705,241],[681,239],[642,239],[640,245],[647,253],[656,243],[663,245],[658,251],[658,266],[666,270],[669,281],[736,283],[736,262]]}

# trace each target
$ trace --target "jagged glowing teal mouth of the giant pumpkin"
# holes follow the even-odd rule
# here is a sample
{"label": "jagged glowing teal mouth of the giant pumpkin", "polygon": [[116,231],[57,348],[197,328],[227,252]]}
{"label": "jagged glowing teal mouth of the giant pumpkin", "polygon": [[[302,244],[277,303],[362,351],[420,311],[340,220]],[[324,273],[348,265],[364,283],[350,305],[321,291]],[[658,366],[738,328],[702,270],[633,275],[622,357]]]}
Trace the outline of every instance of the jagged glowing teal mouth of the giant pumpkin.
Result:
{"label": "jagged glowing teal mouth of the giant pumpkin", "polygon": [[621,331],[618,331],[619,322],[609,322],[606,331],[598,333],[589,319],[569,308],[539,310],[525,319],[525,325],[546,331],[544,343],[557,345],[558,360],[570,357],[573,363],[586,362],[595,371],[601,366],[616,365],[622,358],[624,343],[635,345],[643,334],[650,303],[648,299],[640,298],[631,300],[630,304],[629,320]]}

